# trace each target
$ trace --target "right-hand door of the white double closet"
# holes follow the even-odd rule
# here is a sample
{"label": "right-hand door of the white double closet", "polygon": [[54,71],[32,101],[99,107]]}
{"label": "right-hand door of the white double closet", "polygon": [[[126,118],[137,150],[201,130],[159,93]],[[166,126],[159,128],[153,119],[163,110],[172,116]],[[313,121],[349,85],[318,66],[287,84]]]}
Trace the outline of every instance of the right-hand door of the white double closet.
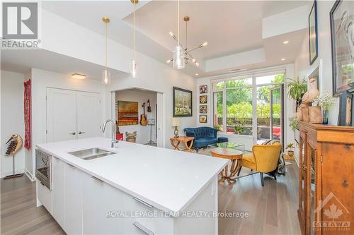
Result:
{"label": "right-hand door of the white double closet", "polygon": [[92,92],[77,92],[78,138],[102,136],[101,122],[100,95]]}

